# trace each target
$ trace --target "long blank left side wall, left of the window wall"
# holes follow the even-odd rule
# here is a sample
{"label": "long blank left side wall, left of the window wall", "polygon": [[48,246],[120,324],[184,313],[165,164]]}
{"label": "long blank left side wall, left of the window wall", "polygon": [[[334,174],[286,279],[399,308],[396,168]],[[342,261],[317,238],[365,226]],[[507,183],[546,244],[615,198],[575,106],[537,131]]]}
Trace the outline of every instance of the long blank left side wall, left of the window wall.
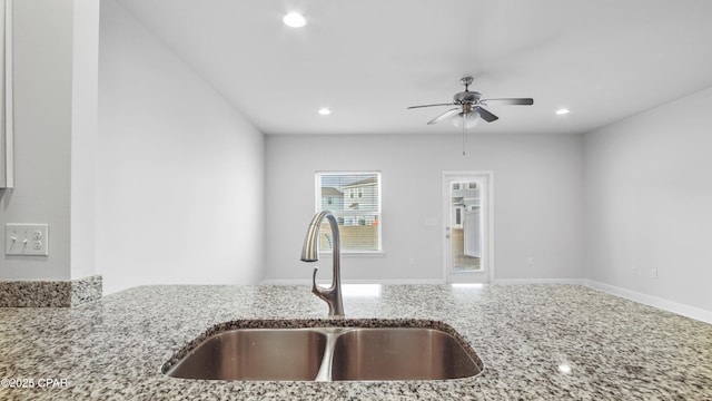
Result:
{"label": "long blank left side wall, left of the window wall", "polygon": [[101,4],[99,61],[105,293],[259,282],[263,135],[115,1]]}

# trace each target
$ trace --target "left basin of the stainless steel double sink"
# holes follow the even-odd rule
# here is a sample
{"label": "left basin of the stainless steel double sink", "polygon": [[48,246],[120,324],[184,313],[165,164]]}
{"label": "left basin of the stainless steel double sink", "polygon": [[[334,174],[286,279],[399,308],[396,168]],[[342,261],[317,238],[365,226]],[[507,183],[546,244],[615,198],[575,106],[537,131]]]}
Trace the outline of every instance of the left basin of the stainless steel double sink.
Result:
{"label": "left basin of the stainless steel double sink", "polygon": [[314,380],[326,335],[308,329],[243,329],[201,342],[166,374],[182,379]]}

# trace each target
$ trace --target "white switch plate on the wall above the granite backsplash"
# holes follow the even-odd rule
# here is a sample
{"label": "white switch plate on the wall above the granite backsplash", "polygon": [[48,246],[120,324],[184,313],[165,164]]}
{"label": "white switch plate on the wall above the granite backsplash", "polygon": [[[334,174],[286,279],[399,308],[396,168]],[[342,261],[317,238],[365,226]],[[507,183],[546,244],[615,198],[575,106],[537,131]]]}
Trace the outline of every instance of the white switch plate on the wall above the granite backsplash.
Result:
{"label": "white switch plate on the wall above the granite backsplash", "polygon": [[48,256],[49,226],[47,224],[6,224],[4,254],[8,256]]}

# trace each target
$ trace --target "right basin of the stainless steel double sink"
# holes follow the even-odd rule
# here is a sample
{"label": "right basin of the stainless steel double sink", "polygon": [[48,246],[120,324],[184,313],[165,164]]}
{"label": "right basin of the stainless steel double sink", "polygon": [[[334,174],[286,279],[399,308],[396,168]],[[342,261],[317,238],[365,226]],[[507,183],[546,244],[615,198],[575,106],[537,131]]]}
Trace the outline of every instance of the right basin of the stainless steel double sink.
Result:
{"label": "right basin of the stainless steel double sink", "polygon": [[332,380],[444,380],[479,369],[452,335],[433,329],[358,329],[334,346]]}

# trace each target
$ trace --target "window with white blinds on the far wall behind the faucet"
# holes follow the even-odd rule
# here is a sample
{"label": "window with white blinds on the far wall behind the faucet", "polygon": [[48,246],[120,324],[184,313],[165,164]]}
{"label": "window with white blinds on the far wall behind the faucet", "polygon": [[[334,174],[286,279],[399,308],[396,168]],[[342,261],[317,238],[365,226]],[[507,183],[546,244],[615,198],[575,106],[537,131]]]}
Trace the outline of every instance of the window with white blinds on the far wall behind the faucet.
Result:
{"label": "window with white blinds on the far wall behind the faucet", "polygon": [[[316,173],[316,212],[330,211],[339,225],[342,252],[380,252],[380,173]],[[324,222],[319,248],[332,248]]]}

